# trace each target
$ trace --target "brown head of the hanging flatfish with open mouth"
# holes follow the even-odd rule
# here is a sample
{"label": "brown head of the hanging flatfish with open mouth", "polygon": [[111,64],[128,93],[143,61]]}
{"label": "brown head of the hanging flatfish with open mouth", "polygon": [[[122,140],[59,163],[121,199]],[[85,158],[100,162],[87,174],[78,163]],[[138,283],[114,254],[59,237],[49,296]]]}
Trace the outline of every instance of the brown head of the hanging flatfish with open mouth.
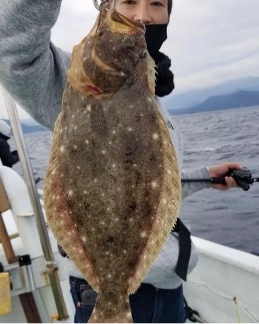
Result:
{"label": "brown head of the hanging flatfish with open mouth", "polygon": [[[124,84],[133,83],[140,73],[147,75],[148,61],[153,66],[154,62],[144,35],[144,24],[110,8],[109,1],[102,2],[93,29],[73,49],[68,72],[72,86],[98,99],[110,97]],[[74,80],[79,82],[75,84]]]}

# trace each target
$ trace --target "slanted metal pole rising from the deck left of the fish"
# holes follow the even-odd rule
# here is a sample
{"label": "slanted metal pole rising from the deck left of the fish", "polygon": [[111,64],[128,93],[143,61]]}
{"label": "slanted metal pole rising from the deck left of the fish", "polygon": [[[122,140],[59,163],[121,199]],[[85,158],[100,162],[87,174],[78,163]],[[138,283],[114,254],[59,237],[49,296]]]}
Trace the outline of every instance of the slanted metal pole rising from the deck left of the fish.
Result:
{"label": "slanted metal pole rising from the deck left of the fish", "polygon": [[57,269],[55,269],[55,267],[54,267],[55,260],[54,260],[54,255],[53,255],[53,252],[51,249],[51,242],[50,242],[50,238],[48,235],[42,208],[40,205],[38,192],[37,192],[37,188],[35,185],[28,152],[26,149],[25,140],[24,140],[16,104],[15,104],[15,101],[13,100],[13,98],[9,95],[9,93],[3,87],[2,87],[2,92],[3,92],[4,101],[6,104],[7,113],[8,113],[9,119],[11,121],[12,131],[13,131],[14,137],[16,139],[17,151],[18,151],[21,166],[23,169],[24,177],[26,180],[25,182],[27,185],[30,201],[31,201],[33,211],[35,214],[36,225],[37,225],[37,229],[38,229],[38,233],[39,233],[39,238],[40,238],[40,243],[42,246],[43,254],[44,254],[47,266],[49,265],[52,268],[48,274],[49,274],[49,278],[50,278],[50,282],[51,282],[52,292],[53,292],[54,299],[56,302],[56,307],[57,307],[58,314],[59,314],[59,319],[64,319],[64,318],[68,317],[66,305],[65,305],[63,294],[62,294],[62,289],[61,289]]}

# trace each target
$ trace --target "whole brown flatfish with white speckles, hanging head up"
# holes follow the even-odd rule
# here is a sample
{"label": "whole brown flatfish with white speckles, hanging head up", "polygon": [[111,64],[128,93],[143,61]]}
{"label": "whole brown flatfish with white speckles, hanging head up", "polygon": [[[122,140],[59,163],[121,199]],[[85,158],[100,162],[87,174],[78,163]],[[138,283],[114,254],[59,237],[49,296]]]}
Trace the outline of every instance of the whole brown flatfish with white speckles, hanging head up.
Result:
{"label": "whole brown flatfish with white speckles, hanging head up", "polygon": [[98,292],[89,323],[132,323],[129,294],[169,237],[180,203],[144,27],[104,3],[73,49],[44,186],[52,232]]}

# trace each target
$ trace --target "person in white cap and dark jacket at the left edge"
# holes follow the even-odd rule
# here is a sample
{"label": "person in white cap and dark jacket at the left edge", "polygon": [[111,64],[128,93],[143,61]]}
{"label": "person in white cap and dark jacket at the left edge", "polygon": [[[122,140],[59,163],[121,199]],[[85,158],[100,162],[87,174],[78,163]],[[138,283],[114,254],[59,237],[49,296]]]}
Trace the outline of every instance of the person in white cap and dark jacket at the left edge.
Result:
{"label": "person in white cap and dark jacket at the left edge", "polygon": [[11,136],[11,127],[0,119],[0,160],[6,167],[12,166],[19,161],[17,150],[10,152],[10,145],[7,141]]}

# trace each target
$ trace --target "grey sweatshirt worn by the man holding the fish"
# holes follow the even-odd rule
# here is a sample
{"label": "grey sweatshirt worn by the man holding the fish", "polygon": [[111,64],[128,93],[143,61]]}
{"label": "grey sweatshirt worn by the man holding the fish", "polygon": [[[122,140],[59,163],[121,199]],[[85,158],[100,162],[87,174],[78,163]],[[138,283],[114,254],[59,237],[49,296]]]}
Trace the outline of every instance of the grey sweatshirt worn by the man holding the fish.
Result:
{"label": "grey sweatshirt worn by the man holding the fish", "polygon": [[[0,0],[0,83],[36,121],[53,130],[61,111],[61,100],[69,68],[70,53],[50,41],[61,0]],[[167,110],[158,106],[165,119],[182,170],[182,139]],[[208,168],[181,172],[182,178],[208,178]],[[184,183],[182,198],[210,188],[209,183]],[[174,289],[181,279],[174,269],[178,258],[178,235],[170,235],[144,279],[157,288]],[[82,275],[68,261],[71,273]],[[188,273],[197,263],[192,246]]]}

